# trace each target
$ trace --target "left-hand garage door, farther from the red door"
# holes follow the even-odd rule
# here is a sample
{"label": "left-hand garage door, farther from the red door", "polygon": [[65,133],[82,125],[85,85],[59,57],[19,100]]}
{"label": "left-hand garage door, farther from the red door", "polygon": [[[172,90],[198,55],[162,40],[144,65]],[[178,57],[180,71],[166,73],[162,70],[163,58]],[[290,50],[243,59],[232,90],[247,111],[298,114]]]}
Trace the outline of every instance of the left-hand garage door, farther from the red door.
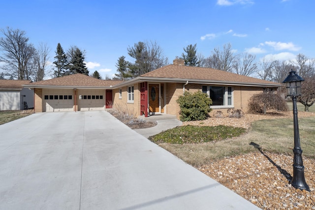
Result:
{"label": "left-hand garage door, farther from the red door", "polygon": [[72,89],[44,89],[44,112],[73,111]]}

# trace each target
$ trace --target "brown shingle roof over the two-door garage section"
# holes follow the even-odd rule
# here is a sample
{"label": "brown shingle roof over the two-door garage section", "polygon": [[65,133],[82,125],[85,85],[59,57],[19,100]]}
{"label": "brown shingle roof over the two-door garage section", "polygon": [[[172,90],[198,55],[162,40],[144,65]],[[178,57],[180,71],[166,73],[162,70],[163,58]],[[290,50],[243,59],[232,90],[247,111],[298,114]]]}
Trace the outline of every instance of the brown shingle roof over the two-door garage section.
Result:
{"label": "brown shingle roof over the two-door garage section", "polygon": [[[30,84],[31,86],[65,86],[65,87],[110,87],[121,83],[118,80],[99,80],[84,74],[72,74],[63,77],[57,77],[50,80],[38,81]],[[30,87],[28,85],[28,87]]]}

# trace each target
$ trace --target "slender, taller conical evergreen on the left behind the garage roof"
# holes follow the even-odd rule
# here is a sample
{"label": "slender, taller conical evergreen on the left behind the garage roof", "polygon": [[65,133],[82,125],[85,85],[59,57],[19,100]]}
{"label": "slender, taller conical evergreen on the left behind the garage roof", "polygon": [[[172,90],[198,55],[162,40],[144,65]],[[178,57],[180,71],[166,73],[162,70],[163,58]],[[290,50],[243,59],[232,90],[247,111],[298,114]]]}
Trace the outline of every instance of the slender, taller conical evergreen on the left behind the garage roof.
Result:
{"label": "slender, taller conical evergreen on the left behind the garage roof", "polygon": [[60,43],[58,43],[57,51],[55,53],[56,53],[56,56],[55,56],[56,60],[54,61],[54,64],[56,65],[57,70],[55,70],[54,76],[61,77],[63,75],[67,75],[68,60]]}

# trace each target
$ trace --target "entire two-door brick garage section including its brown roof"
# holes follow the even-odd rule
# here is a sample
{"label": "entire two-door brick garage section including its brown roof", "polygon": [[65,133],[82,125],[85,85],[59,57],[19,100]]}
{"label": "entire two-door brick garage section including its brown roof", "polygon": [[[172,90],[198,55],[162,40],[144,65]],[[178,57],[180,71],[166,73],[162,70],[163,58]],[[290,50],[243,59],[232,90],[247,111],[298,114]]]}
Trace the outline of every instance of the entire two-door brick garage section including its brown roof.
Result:
{"label": "entire two-door brick garage section including its brown roof", "polygon": [[90,111],[111,108],[112,87],[117,80],[99,80],[72,74],[39,81],[25,88],[34,90],[35,112]]}

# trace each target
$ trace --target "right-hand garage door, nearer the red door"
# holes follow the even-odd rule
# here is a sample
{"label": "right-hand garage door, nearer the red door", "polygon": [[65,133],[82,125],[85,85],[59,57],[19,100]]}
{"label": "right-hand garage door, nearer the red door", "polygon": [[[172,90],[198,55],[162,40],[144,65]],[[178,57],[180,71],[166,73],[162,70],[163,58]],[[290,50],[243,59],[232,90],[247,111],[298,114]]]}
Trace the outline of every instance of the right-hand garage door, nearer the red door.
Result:
{"label": "right-hand garage door, nearer the red door", "polygon": [[78,90],[78,110],[104,110],[105,90]]}

